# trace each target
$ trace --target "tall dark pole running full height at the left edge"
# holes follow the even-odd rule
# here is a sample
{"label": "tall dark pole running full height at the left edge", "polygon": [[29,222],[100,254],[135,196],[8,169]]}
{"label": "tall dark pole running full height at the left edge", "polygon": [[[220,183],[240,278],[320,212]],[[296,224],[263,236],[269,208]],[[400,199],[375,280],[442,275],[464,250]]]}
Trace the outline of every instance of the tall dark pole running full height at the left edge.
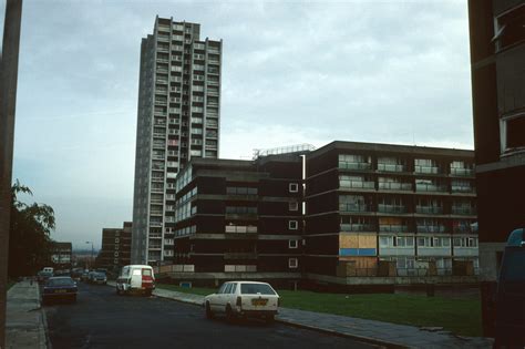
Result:
{"label": "tall dark pole running full height at the left edge", "polygon": [[9,226],[21,19],[22,0],[7,0],[0,62],[0,348],[6,348]]}

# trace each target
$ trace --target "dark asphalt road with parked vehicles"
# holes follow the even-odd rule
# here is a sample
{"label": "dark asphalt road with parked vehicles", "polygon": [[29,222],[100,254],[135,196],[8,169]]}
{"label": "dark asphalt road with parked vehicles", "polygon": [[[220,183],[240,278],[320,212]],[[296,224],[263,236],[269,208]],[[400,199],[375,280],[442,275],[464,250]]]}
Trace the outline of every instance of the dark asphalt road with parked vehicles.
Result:
{"label": "dark asphalt road with parked vehicles", "polygon": [[44,307],[60,348],[377,348],[348,338],[258,320],[207,320],[200,307],[157,297],[117,296],[79,283],[76,304]]}

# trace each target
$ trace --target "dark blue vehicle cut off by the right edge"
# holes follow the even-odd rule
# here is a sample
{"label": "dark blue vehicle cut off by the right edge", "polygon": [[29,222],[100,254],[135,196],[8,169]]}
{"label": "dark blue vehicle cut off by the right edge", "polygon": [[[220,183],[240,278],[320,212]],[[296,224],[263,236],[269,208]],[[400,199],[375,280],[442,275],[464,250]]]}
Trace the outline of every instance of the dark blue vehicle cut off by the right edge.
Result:
{"label": "dark blue vehicle cut off by the right edge", "polygon": [[525,229],[515,229],[503,253],[496,294],[494,347],[525,347]]}

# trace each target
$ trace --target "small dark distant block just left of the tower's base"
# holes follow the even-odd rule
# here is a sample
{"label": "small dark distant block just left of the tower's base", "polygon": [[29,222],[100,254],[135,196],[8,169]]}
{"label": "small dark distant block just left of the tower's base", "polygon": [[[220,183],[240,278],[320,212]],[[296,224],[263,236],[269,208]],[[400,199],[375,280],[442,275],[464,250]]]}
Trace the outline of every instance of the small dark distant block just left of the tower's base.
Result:
{"label": "small dark distant block just left of the tower's base", "polygon": [[124,222],[122,228],[103,228],[102,244],[96,257],[96,266],[110,271],[131,263],[132,223]]}

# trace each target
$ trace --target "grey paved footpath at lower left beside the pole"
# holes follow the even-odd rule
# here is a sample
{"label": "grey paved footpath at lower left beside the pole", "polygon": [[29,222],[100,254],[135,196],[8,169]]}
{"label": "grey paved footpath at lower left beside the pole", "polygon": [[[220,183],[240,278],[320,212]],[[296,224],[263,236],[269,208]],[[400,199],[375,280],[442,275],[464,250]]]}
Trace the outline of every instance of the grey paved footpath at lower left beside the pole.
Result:
{"label": "grey paved footpath at lower left beside the pole", "polygon": [[9,289],[6,338],[8,349],[48,348],[45,315],[40,308],[37,281],[24,280]]}

